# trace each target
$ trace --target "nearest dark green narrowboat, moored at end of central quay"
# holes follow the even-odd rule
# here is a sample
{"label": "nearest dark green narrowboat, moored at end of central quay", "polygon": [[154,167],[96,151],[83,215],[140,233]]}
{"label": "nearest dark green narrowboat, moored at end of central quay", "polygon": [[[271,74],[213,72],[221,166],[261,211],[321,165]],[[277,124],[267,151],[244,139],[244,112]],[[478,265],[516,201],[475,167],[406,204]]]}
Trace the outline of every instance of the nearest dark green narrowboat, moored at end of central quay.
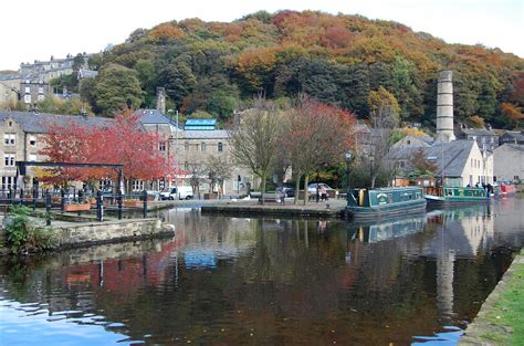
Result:
{"label": "nearest dark green narrowboat, moored at end of central quay", "polygon": [[419,187],[353,189],[347,196],[346,212],[355,220],[423,212],[426,200]]}

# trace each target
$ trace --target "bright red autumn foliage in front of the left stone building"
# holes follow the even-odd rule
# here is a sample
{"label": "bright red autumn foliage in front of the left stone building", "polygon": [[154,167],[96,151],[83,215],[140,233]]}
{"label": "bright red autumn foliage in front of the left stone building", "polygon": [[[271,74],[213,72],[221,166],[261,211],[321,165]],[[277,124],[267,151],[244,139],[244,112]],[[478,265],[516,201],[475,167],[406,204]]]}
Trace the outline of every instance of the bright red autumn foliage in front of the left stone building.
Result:
{"label": "bright red autumn foliage in front of the left stone building", "polygon": [[[65,126],[49,125],[40,155],[51,162],[122,164],[127,189],[132,180],[154,180],[174,174],[174,164],[158,148],[159,136],[146,132],[139,115],[129,112],[92,126],[72,120]],[[73,180],[117,178],[117,171],[101,168],[54,168],[51,184],[66,186]]]}

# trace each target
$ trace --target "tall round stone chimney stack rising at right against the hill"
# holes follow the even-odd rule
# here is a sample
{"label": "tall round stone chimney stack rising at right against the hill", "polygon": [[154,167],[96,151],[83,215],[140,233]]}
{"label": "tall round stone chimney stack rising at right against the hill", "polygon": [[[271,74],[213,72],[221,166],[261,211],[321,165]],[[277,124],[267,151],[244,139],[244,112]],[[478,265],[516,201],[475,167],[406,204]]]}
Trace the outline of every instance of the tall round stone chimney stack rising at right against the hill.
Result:
{"label": "tall round stone chimney stack rising at right against the hill", "polygon": [[437,84],[437,141],[452,141],[453,132],[453,72],[439,72]]}

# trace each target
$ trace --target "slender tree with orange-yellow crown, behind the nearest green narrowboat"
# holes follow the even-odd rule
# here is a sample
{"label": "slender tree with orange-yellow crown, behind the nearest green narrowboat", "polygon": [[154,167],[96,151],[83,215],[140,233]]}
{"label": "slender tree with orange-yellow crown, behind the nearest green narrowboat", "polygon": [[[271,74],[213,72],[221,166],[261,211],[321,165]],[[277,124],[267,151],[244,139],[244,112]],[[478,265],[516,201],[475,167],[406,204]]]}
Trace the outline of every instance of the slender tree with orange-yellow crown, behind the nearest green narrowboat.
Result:
{"label": "slender tree with orange-yellow crown, behind the nearest green narrowboat", "polygon": [[400,107],[395,96],[381,86],[369,93],[368,107],[371,123],[370,153],[361,159],[369,165],[371,188],[375,188],[377,176],[388,170],[386,156],[391,146],[391,134],[399,123]]}

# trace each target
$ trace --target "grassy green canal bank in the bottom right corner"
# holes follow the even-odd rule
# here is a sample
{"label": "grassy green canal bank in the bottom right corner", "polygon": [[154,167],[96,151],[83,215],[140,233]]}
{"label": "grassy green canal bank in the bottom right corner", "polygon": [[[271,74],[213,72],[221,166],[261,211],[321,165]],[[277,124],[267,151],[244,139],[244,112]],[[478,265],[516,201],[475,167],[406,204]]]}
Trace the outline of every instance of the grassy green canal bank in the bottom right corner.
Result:
{"label": "grassy green canal bank in the bottom right corner", "polygon": [[458,345],[524,345],[524,250],[482,304]]}

